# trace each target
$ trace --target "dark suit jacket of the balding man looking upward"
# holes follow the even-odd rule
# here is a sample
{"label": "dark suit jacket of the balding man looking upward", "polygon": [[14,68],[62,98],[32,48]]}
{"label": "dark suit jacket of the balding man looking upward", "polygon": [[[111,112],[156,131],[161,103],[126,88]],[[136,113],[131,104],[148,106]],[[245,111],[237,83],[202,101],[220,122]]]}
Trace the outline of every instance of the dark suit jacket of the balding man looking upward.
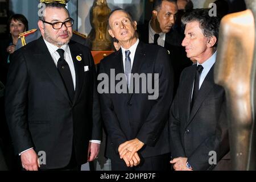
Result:
{"label": "dark suit jacket of the balding man looking upward", "polygon": [[[158,99],[148,100],[148,92],[100,94],[102,118],[108,133],[108,158],[118,159],[119,145],[134,138],[145,143],[139,151],[142,157],[170,152],[167,125],[173,76],[169,64],[166,49],[139,42],[131,73],[159,73]],[[110,76],[110,69],[115,69],[115,75],[124,73],[121,49],[101,61],[100,73]]]}

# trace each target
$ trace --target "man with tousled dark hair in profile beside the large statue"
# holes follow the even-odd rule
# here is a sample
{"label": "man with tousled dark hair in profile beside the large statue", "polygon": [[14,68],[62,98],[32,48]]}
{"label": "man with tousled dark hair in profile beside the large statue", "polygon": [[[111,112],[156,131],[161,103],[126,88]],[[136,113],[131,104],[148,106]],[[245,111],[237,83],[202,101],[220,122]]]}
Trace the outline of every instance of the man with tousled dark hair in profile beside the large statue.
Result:
{"label": "man with tousled dark hair in profile beside the large statue", "polygon": [[197,64],[181,73],[171,106],[171,163],[175,170],[207,170],[215,166],[209,162],[209,152],[216,152],[218,162],[229,151],[225,92],[213,80],[220,19],[210,17],[208,9],[196,9],[182,21],[186,24],[182,45]]}

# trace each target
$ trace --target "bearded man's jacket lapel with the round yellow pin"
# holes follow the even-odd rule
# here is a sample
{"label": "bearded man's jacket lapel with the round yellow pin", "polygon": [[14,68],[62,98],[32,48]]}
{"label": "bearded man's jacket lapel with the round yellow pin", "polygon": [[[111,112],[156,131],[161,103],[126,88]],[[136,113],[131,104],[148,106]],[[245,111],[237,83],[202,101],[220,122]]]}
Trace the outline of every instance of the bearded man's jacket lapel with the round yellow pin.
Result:
{"label": "bearded man's jacket lapel with the round yellow pin", "polygon": [[[76,72],[76,90],[75,90],[75,97],[73,100],[73,104],[75,104],[80,96],[82,85],[84,84],[84,64],[83,64],[84,60],[83,59],[85,59],[85,57],[84,55],[82,55],[82,52],[80,51],[79,47],[75,46],[75,43],[71,42],[68,44],[68,46],[71,52],[71,56],[72,56],[72,60],[73,60],[75,72]],[[80,56],[82,60],[81,61],[77,60],[76,56]]]}

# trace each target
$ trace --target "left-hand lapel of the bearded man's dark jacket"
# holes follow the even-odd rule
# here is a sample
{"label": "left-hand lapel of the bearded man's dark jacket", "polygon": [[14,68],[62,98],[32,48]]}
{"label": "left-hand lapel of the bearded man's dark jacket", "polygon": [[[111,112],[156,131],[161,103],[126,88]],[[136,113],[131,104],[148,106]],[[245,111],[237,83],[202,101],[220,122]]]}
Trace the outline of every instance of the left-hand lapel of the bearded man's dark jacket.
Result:
{"label": "left-hand lapel of the bearded man's dark jacket", "polygon": [[[43,38],[39,38],[37,42],[36,52],[34,52],[35,57],[37,57],[41,64],[40,66],[45,69],[48,73],[48,76],[51,78],[56,87],[60,90],[60,92],[64,95],[64,97],[69,100],[67,89],[65,88],[64,82],[60,77],[60,73],[52,60],[52,56],[50,55],[46,43],[44,43]],[[70,101],[70,100],[69,100]]]}

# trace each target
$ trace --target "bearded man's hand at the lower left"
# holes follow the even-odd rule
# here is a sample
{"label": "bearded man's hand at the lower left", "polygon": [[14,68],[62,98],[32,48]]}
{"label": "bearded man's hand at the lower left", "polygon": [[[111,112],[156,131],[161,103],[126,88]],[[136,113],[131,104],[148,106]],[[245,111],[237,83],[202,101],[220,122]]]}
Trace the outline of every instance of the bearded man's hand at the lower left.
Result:
{"label": "bearded man's hand at the lower left", "polygon": [[34,151],[34,149],[30,149],[26,152],[23,152],[20,155],[20,159],[22,162],[22,167],[26,169],[26,171],[38,171],[38,167],[40,167],[38,155]]}

